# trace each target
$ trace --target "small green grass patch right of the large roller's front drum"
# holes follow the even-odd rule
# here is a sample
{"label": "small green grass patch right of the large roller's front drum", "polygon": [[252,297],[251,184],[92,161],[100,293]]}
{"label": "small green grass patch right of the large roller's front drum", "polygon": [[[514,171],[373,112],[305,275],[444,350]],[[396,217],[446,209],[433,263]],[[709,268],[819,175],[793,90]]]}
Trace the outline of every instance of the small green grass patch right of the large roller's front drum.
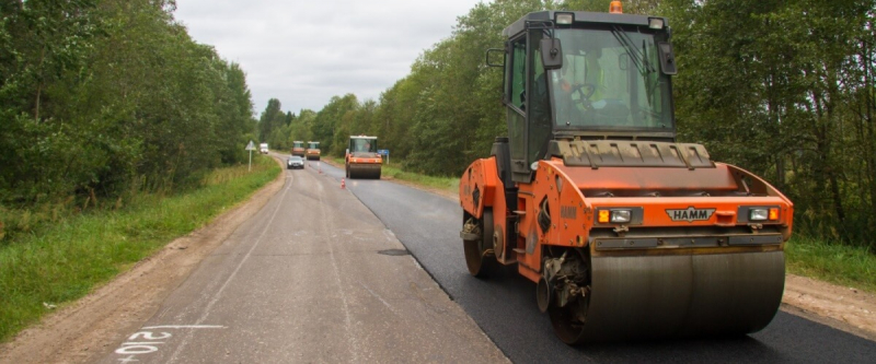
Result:
{"label": "small green grass patch right of the large roller's front drum", "polygon": [[867,248],[794,235],[785,257],[788,273],[876,293],[876,255]]}

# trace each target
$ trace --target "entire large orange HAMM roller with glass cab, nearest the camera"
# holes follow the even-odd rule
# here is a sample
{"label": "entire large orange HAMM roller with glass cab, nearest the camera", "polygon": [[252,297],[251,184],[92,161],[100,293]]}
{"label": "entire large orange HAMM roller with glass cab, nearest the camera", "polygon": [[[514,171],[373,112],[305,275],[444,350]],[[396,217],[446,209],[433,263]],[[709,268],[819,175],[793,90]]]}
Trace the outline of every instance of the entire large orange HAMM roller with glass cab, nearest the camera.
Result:
{"label": "entire large orange HAMM roller with glass cab, nearest the camera", "polygon": [[793,204],[676,142],[667,20],[544,11],[503,34],[508,137],[460,181],[469,271],[512,266],[568,344],[764,328]]}

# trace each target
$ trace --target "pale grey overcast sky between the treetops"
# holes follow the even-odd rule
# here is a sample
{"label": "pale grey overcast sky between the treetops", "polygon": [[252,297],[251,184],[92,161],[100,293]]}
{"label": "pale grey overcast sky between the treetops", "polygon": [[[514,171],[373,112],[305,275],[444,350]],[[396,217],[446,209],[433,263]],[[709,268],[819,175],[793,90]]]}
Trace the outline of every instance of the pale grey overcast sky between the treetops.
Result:
{"label": "pale grey overcast sky between the treetops", "polygon": [[347,93],[379,101],[479,2],[176,0],[175,17],[196,42],[241,64],[257,116],[272,97],[295,114]]}

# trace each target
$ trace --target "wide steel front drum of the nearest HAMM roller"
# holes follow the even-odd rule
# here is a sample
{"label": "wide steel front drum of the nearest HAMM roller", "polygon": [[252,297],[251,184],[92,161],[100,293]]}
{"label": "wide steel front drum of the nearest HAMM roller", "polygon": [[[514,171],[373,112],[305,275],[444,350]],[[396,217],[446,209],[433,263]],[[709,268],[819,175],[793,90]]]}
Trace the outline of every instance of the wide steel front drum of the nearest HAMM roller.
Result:
{"label": "wide steel front drum of the nearest HAMM roller", "polygon": [[[601,256],[590,265],[589,300],[552,313],[557,336],[569,344],[751,333],[770,324],[784,292],[781,250]],[[581,316],[584,325],[570,318]]]}

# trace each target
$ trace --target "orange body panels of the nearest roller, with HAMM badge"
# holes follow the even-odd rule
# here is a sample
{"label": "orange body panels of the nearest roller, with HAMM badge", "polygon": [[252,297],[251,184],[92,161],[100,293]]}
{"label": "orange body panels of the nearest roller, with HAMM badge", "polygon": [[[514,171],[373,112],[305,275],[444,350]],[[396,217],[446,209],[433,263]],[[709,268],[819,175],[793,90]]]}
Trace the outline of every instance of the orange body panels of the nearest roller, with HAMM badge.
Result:
{"label": "orange body panels of the nearest roller, with HAMM badge", "polygon": [[[510,225],[516,239],[496,247],[496,259],[504,265],[518,263],[520,274],[533,282],[541,274],[546,246],[587,247],[595,257],[782,250],[791,236],[794,212],[793,203],[766,181],[723,163],[695,169],[591,168],[566,166],[555,157],[539,162],[531,184],[517,184],[516,206],[506,206],[504,187],[496,158],[477,160],[460,181],[460,204],[476,219],[492,209],[496,232],[508,232]],[[548,202],[548,215],[560,216],[545,230],[537,222],[543,201]],[[779,216],[753,223],[739,215],[754,207],[777,208]],[[629,224],[598,221],[599,210],[618,208],[641,209],[642,213]],[[694,209],[711,213],[696,216]],[[752,236],[773,238],[776,244],[747,245],[741,240]],[[657,246],[644,244],[654,239]],[[691,239],[694,244],[689,244]],[[602,242],[611,244],[602,248]]]}

